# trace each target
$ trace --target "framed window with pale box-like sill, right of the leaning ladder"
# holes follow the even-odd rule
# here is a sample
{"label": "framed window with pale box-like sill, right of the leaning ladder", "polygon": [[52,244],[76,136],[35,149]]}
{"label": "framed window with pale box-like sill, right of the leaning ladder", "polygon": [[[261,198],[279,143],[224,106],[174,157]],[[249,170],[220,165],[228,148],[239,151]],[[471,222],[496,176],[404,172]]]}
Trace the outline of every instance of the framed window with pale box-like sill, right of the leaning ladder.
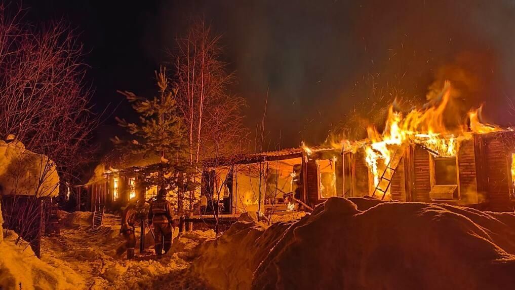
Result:
{"label": "framed window with pale box-like sill, right of the leaning ladder", "polygon": [[430,156],[431,199],[459,199],[458,166],[456,156]]}

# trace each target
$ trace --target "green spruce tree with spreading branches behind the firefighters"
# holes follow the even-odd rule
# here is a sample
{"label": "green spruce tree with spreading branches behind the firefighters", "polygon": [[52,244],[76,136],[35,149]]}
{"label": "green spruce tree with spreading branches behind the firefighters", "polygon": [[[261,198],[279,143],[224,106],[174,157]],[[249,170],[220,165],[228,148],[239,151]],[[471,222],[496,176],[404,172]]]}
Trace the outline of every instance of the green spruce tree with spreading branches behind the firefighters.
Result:
{"label": "green spruce tree with spreading branches behind the firefighters", "polygon": [[[132,155],[157,155],[161,162],[145,168],[138,168],[145,186],[158,185],[168,189],[177,186],[177,173],[184,170],[181,153],[185,147],[182,119],[177,113],[177,90],[168,87],[166,69],[156,72],[159,94],[153,99],[136,96],[132,92],[118,91],[125,95],[132,108],[139,114],[139,123],[129,123],[116,118],[118,125],[126,128],[133,137],[123,140],[115,136],[115,146]],[[156,174],[158,173],[158,174]]]}

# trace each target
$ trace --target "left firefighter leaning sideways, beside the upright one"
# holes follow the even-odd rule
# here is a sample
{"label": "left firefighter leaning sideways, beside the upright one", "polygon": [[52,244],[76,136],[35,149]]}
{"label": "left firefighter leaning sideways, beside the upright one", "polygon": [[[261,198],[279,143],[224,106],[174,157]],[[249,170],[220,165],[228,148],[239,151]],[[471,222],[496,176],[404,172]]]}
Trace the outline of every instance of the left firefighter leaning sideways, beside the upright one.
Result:
{"label": "left firefighter leaning sideways, beside the upright one", "polygon": [[145,195],[141,194],[138,202],[129,204],[122,213],[122,228],[120,233],[124,236],[126,243],[125,247],[118,249],[123,252],[124,248],[127,249],[127,259],[134,257],[134,247],[136,246],[136,235],[134,234],[134,226],[136,219],[139,215],[148,208],[148,203],[145,201]]}

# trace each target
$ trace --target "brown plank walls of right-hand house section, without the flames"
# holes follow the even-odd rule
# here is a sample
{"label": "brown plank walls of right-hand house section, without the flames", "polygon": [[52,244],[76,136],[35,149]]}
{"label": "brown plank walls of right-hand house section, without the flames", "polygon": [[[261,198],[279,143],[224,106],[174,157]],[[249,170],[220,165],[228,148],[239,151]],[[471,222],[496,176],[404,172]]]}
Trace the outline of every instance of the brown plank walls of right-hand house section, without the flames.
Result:
{"label": "brown plank walls of right-hand house section, without the flames", "polygon": [[[490,211],[513,211],[515,133],[474,134],[461,141],[456,156],[438,157],[411,144],[393,173],[392,200],[466,205]],[[346,197],[372,195],[372,176],[363,150],[345,152]],[[381,197],[382,193],[379,193]]]}

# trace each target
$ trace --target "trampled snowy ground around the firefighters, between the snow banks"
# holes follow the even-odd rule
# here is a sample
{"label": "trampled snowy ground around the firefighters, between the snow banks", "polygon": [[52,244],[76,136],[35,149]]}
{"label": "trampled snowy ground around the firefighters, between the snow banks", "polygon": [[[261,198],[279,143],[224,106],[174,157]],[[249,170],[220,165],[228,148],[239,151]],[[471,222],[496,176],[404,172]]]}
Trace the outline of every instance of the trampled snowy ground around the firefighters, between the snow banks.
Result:
{"label": "trampled snowy ground around the firefighters, between the snow banks", "polygon": [[[191,276],[188,266],[196,245],[212,239],[213,231],[187,233],[177,238],[172,250],[156,260],[153,250],[139,253],[127,261],[125,252],[119,256],[116,249],[125,241],[119,236],[120,219],[106,215],[104,226],[96,231],[90,228],[91,213],[62,212],[64,228],[60,237],[44,237],[42,241],[41,260],[62,261],[66,268],[75,271],[83,279],[84,289],[203,289],[195,276]],[[136,236],[139,237],[139,229]],[[146,235],[147,244],[151,244],[150,234]],[[77,288],[81,288],[77,287]]]}

